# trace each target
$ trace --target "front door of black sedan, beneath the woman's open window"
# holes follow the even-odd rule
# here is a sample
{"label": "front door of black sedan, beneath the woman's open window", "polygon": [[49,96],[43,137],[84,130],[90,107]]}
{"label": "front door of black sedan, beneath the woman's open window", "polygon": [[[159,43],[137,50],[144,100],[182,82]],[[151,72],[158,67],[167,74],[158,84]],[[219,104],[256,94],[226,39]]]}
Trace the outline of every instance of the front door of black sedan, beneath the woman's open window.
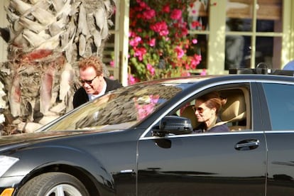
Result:
{"label": "front door of black sedan, beneath the woman's open window", "polygon": [[[251,88],[251,115],[260,119],[256,85]],[[138,195],[265,194],[263,131],[147,135],[138,141],[137,161]]]}

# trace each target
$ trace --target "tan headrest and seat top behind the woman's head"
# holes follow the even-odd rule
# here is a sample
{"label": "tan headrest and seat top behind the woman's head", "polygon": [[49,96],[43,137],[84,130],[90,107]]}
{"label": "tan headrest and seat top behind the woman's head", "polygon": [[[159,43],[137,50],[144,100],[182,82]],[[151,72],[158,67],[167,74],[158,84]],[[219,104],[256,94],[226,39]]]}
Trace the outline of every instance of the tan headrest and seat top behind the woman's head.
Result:
{"label": "tan headrest and seat top behind the woman's head", "polygon": [[246,102],[244,94],[228,94],[227,103],[221,110],[222,121],[241,121],[246,119]]}

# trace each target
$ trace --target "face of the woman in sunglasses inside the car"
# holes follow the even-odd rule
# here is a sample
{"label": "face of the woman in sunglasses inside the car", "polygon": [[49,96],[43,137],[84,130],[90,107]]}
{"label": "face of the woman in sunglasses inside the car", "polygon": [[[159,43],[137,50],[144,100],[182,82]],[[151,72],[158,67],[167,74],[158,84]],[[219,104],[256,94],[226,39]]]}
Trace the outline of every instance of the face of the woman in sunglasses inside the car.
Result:
{"label": "face of the woman in sunglasses inside the car", "polygon": [[196,100],[195,106],[194,106],[194,112],[198,122],[205,122],[205,121],[208,121],[209,119],[214,118],[216,109],[215,108],[210,109],[209,107],[206,106],[205,102]]}

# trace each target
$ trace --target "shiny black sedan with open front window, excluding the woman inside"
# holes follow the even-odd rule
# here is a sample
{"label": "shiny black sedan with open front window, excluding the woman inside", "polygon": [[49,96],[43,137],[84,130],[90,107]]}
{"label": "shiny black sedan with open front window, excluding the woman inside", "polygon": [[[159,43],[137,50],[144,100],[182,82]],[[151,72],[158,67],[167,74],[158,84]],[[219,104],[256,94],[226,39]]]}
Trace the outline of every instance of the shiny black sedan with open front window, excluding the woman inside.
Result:
{"label": "shiny black sedan with open front window, excluding the woman inside", "polygon": [[[194,133],[202,94],[230,131]],[[0,137],[0,195],[294,195],[294,77],[141,82]]]}

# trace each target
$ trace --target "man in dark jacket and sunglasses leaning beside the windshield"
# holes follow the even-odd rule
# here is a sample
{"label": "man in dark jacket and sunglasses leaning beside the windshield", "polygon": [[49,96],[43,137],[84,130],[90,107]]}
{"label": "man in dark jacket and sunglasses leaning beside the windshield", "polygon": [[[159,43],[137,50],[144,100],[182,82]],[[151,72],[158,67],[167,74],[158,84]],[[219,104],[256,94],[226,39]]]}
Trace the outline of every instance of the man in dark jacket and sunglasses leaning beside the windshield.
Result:
{"label": "man in dark jacket and sunglasses leaning beside the windshield", "polygon": [[79,71],[82,87],[77,89],[74,94],[72,102],[74,108],[100,97],[106,92],[122,87],[118,80],[104,77],[102,61],[95,56],[80,60]]}

